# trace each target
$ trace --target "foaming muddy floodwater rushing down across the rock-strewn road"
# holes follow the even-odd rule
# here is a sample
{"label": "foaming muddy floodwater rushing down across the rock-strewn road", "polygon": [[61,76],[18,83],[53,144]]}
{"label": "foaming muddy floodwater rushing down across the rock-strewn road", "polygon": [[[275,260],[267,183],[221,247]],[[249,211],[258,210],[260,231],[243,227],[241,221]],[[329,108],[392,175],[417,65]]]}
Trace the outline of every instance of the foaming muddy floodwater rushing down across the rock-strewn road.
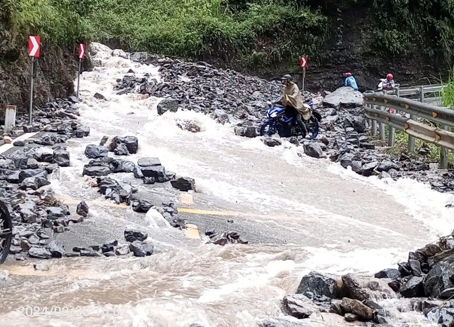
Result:
{"label": "foaming muddy floodwater rushing down across the rock-strewn road", "polygon": [[[35,260],[7,261],[1,267],[9,271],[6,280],[0,279],[1,326],[256,326],[257,319],[279,316],[282,297],[295,292],[301,276],[312,270],[371,275],[452,229],[444,207],[453,202],[452,195],[410,180],[363,178],[326,160],[301,158],[301,149],[286,142],[268,148],[258,138],[237,137],[229,126],[202,114],[158,116],[156,98],[116,95],[115,80],[130,68],[159,79],[158,68],[97,47],[94,59],[102,59],[103,67],[84,72],[80,90],[80,120],[91,134],[68,142],[72,166],[61,168],[51,185],[72,207],[87,199],[90,217],[61,237],[67,247],[93,242],[98,235],[102,243],[120,239],[125,227],[136,227],[148,232],[156,253],[53,259],[46,261],[47,271],[35,271]],[[95,92],[108,101],[94,99]],[[202,131],[183,131],[176,119],[197,120]],[[98,144],[104,135],[138,137],[139,152],[128,160],[158,157],[168,170],[195,178],[197,193],[147,188],[127,174],[114,176],[118,180],[137,183],[140,192],[176,200],[180,207],[235,212],[235,219],[244,219],[252,230],[271,228],[270,238],[287,234],[289,242],[258,237],[260,243],[249,245],[204,244],[151,213],[108,203],[81,177],[88,162],[85,146]],[[381,303],[395,314],[395,326],[430,326],[422,314],[409,312],[409,302]],[[50,317],[26,317],[31,312],[21,306],[41,312],[47,307]],[[50,314],[52,306],[68,311]],[[350,324],[333,314],[314,319],[326,326]]]}

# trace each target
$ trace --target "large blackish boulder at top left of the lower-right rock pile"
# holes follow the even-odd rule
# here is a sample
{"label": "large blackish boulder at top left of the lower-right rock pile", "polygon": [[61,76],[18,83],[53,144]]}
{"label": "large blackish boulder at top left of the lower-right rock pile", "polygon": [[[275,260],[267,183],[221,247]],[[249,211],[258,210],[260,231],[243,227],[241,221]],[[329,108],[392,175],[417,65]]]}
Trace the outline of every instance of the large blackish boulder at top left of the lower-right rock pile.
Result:
{"label": "large blackish boulder at top left of the lower-right rock pile", "polygon": [[296,293],[312,292],[318,296],[336,298],[338,286],[336,280],[319,272],[310,272],[309,275],[302,277]]}

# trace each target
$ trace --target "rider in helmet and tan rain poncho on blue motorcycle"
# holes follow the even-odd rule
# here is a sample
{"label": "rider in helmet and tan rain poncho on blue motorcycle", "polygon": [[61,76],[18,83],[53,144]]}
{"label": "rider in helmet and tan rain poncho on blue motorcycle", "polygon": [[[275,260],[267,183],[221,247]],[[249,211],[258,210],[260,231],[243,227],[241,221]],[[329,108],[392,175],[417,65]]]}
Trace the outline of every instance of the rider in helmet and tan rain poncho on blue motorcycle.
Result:
{"label": "rider in helmet and tan rain poncho on blue motorcycle", "polygon": [[282,91],[281,103],[287,110],[295,114],[296,123],[300,126],[304,135],[307,136],[306,124],[303,119],[311,118],[311,109],[304,105],[304,99],[298,86],[292,82],[291,76],[286,74],[281,77],[282,84],[285,85]]}

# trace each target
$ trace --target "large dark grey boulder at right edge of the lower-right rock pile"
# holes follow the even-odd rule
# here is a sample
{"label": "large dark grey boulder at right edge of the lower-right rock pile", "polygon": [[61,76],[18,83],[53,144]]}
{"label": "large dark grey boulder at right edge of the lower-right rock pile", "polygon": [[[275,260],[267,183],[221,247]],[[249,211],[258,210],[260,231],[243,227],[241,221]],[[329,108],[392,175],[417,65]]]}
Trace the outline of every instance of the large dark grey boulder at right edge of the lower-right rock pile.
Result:
{"label": "large dark grey boulder at right edge of the lower-right rock pile", "polygon": [[439,262],[424,277],[424,293],[426,296],[439,298],[445,289],[454,287],[452,279],[454,277],[453,265]]}

